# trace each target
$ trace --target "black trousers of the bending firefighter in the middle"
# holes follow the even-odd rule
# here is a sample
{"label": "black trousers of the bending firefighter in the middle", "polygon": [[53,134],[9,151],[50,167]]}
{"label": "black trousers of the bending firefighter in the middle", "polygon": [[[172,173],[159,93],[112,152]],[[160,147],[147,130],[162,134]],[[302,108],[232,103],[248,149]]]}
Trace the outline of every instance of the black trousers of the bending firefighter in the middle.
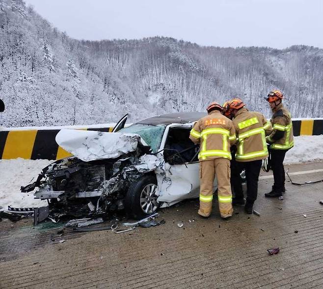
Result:
{"label": "black trousers of the bending firefighter in the middle", "polygon": [[261,165],[262,160],[251,162],[235,162],[233,168],[231,168],[231,183],[237,199],[243,199],[242,179],[240,177],[240,173],[244,169],[245,179],[247,182],[246,203],[253,204],[256,201],[258,195],[258,178]]}

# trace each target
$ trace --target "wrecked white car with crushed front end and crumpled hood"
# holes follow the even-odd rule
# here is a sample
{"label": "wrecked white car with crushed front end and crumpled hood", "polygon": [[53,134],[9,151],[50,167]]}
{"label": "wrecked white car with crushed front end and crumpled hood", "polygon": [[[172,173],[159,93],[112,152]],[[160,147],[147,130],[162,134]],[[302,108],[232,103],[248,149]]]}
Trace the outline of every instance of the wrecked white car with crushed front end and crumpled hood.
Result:
{"label": "wrecked white car with crushed front end and crumpled hood", "polygon": [[[194,121],[205,113],[153,116],[112,133],[61,130],[56,142],[74,155],[44,168],[22,187],[47,199],[54,218],[125,211],[142,218],[199,196],[198,145],[189,140]],[[215,182],[216,188],[216,182]]]}

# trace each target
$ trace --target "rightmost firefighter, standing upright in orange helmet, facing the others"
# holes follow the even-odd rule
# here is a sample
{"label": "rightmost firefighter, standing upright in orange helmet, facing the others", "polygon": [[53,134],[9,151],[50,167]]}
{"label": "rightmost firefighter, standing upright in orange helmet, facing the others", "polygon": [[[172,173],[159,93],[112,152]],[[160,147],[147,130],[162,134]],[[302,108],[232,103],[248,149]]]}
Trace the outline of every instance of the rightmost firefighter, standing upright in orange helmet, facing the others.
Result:
{"label": "rightmost firefighter, standing upright in orange helmet, facing the others", "polygon": [[280,197],[285,192],[284,158],[286,152],[294,146],[293,123],[290,112],[283,106],[283,94],[279,90],[270,91],[266,100],[272,110],[273,130],[266,138],[270,144],[270,166],[274,183],[272,189],[265,196],[268,198]]}

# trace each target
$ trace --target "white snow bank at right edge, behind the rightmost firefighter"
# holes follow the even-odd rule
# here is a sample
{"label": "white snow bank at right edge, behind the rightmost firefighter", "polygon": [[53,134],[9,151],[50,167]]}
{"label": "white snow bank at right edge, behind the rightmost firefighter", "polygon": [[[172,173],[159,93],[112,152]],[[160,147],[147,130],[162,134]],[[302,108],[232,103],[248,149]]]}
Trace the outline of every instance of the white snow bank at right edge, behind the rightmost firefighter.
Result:
{"label": "white snow bank at right edge, behind the rightmost firefighter", "polygon": [[323,160],[323,135],[294,137],[294,147],[285,157],[284,164],[296,164]]}

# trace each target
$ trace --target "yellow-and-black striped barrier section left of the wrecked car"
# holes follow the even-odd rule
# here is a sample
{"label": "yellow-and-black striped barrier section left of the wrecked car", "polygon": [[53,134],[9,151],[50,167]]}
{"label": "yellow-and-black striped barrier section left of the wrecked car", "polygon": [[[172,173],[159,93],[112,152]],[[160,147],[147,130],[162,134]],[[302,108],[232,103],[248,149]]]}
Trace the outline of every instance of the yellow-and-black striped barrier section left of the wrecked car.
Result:
{"label": "yellow-and-black striped barrier section left of the wrecked car", "polygon": [[[111,132],[113,128],[81,129]],[[0,159],[55,160],[71,156],[57,145],[55,137],[58,132],[59,129],[0,131]]]}

